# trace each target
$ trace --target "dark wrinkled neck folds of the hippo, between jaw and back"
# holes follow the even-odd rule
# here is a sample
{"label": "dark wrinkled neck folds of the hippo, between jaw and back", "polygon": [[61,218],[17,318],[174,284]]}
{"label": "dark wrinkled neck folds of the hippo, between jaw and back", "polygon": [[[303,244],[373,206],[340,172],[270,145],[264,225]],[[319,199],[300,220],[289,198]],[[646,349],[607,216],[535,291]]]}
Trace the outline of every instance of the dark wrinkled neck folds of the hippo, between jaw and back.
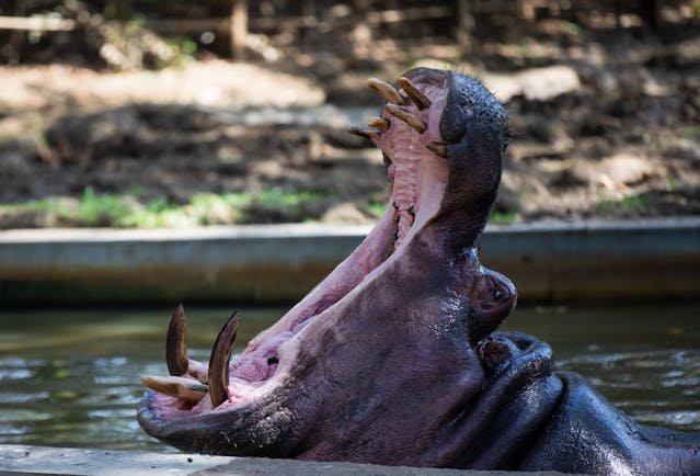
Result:
{"label": "dark wrinkled neck folds of the hippo, between jaw and back", "polygon": [[548,423],[562,395],[551,373],[551,349],[520,332],[497,332],[519,352],[486,371],[482,392],[436,439],[421,465],[474,469],[516,468]]}

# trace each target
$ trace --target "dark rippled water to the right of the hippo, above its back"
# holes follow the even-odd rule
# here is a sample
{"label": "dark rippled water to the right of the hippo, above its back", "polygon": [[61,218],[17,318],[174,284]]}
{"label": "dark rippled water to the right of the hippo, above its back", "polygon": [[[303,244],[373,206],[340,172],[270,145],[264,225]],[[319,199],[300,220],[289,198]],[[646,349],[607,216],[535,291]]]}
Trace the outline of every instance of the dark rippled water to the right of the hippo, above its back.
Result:
{"label": "dark rippled water to the right of the hippo, above its back", "polygon": [[700,305],[517,310],[507,329],[547,341],[635,420],[700,430]]}

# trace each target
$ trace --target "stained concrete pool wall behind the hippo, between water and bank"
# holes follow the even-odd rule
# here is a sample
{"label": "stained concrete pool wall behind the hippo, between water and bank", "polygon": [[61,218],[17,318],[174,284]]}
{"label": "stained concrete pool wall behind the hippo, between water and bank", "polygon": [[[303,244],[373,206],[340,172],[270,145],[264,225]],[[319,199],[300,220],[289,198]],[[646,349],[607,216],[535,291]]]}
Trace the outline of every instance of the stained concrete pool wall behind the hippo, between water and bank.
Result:
{"label": "stained concrete pool wall behind the hippo, between water and bank", "polygon": [[[0,303],[294,302],[369,228],[0,231]],[[523,301],[700,298],[698,217],[490,226],[480,252]]]}

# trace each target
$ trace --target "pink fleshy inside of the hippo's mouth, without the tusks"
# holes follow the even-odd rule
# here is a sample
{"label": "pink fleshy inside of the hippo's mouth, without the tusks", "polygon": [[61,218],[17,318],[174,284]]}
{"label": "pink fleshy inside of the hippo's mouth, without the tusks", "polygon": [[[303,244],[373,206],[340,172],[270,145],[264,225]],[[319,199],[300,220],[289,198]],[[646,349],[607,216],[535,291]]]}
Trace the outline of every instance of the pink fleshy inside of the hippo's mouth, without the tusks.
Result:
{"label": "pink fleshy inside of the hippo's mouth, without the tusks", "polygon": [[[210,399],[205,397],[193,406],[176,397],[157,394],[152,408],[163,418],[191,417],[245,406],[271,392],[288,374],[290,362],[285,356],[292,355],[291,349],[301,344],[307,326],[332,314],[334,306],[352,299],[370,280],[380,275],[385,267],[400,259],[406,243],[435,216],[447,182],[447,159],[436,156],[425,146],[441,141],[439,120],[447,88],[420,82],[416,86],[433,105],[418,111],[406,100],[408,105],[403,109],[427,124],[423,134],[382,111],[382,117],[388,118],[391,126],[375,143],[391,159],[388,173],[392,193],[388,209],[377,226],[323,282],[275,325],[255,337],[240,355],[231,359],[228,399],[223,404],[214,408]],[[401,94],[405,98],[403,91]],[[206,371],[207,365],[202,364],[198,373],[206,374]]]}

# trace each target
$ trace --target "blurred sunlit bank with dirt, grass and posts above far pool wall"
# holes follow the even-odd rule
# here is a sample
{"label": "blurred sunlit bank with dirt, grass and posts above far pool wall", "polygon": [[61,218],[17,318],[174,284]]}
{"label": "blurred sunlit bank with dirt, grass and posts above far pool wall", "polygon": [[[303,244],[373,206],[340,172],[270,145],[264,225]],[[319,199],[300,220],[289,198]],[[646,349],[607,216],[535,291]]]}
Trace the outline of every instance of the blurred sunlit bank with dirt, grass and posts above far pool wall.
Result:
{"label": "blurred sunlit bank with dirt, grass and posts above far pool wall", "polygon": [[368,77],[506,104],[494,220],[700,212],[700,1],[4,0],[0,227],[371,223]]}

